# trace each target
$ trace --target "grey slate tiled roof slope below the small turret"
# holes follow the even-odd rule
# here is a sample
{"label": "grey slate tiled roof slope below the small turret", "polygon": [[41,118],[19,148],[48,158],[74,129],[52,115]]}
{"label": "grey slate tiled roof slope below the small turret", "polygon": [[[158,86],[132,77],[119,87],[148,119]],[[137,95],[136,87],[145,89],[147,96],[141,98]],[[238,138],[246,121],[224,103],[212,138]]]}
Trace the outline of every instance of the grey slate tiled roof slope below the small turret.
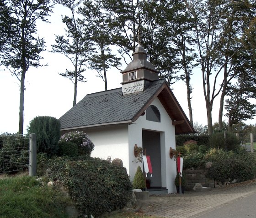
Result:
{"label": "grey slate tiled roof slope below the small turret", "polygon": [[143,92],[128,95],[122,88],[86,95],[59,118],[61,129],[131,121],[165,83],[156,80]]}

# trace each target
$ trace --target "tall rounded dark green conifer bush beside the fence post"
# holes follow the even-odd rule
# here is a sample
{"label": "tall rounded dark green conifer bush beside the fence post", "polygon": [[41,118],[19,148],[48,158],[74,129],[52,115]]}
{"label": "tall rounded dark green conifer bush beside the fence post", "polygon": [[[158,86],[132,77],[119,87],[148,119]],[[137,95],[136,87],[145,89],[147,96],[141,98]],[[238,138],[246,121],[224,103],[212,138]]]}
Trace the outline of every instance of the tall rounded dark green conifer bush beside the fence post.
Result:
{"label": "tall rounded dark green conifer bush beside the fence post", "polygon": [[46,153],[49,157],[58,152],[60,122],[55,117],[35,117],[29,123],[28,133],[37,134],[37,152]]}

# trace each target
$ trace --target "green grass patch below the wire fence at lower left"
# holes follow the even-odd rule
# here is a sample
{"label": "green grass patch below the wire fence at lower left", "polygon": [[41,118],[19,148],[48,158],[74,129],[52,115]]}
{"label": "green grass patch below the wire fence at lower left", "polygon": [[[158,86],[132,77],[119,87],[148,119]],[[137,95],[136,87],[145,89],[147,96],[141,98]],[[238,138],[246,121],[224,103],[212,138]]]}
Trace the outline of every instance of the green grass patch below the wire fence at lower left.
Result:
{"label": "green grass patch below the wire fence at lower left", "polygon": [[0,179],[0,196],[1,218],[67,218],[67,199],[34,177]]}

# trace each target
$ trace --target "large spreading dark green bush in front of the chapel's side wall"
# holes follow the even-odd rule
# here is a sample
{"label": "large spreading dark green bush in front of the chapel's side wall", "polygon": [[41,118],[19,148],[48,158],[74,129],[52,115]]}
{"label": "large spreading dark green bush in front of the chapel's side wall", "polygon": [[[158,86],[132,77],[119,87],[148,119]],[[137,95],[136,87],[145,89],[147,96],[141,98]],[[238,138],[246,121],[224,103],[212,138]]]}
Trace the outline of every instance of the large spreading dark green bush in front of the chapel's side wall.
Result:
{"label": "large spreading dark green bush in front of the chapel's side wall", "polygon": [[49,166],[48,176],[63,183],[84,215],[99,217],[123,208],[131,198],[132,186],[124,167],[89,156],[56,157]]}

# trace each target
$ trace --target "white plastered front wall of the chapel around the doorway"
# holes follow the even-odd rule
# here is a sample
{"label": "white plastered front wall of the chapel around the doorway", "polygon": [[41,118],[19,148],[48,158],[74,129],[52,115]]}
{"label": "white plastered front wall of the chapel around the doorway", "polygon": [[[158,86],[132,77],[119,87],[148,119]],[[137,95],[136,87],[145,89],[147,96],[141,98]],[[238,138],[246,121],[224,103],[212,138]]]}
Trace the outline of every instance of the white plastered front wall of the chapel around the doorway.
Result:
{"label": "white plastered front wall of the chapel around the doorway", "polygon": [[[176,177],[176,162],[174,158],[171,159],[169,156],[170,147],[176,148],[175,144],[175,126],[172,125],[171,118],[165,111],[158,98],[156,98],[151,105],[158,108],[161,116],[161,122],[153,122],[146,120],[146,114],[140,116],[135,122],[128,126],[129,135],[129,171],[128,174],[133,180],[137,167],[143,167],[142,163],[136,163],[133,154],[134,145],[142,147],[142,130],[160,132],[160,143],[161,143],[161,172],[162,172],[162,187],[168,189],[168,193],[176,193],[176,187],[174,180]],[[153,172],[154,176],[154,172]]]}

